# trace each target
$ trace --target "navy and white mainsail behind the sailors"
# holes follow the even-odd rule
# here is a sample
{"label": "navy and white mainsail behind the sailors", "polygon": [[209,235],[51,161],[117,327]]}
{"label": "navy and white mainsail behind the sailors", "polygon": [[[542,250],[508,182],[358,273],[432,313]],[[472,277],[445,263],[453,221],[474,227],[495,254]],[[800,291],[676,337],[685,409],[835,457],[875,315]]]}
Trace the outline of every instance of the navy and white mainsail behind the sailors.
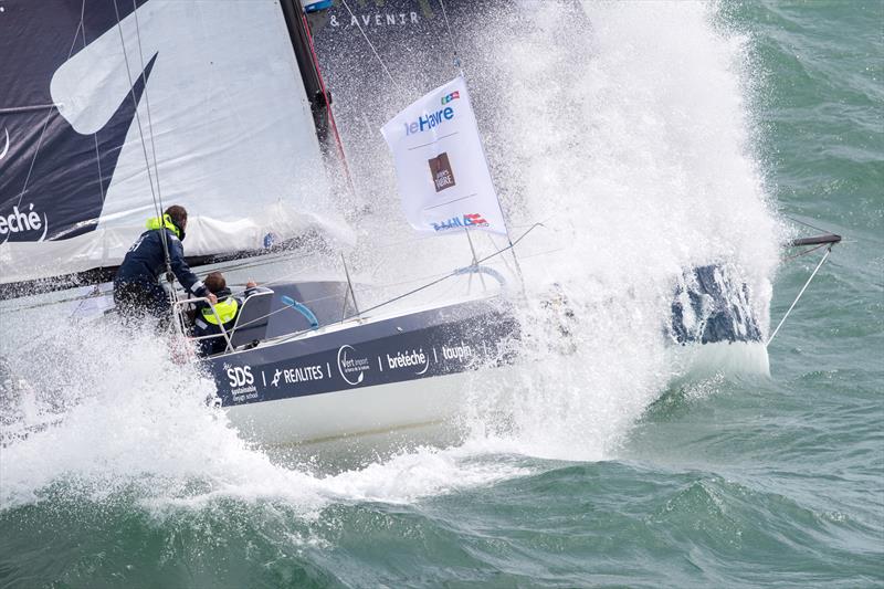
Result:
{"label": "navy and white mainsail behind the sailors", "polygon": [[0,31],[0,283],[118,264],[160,197],[187,255],[346,234],[278,0],[6,2]]}

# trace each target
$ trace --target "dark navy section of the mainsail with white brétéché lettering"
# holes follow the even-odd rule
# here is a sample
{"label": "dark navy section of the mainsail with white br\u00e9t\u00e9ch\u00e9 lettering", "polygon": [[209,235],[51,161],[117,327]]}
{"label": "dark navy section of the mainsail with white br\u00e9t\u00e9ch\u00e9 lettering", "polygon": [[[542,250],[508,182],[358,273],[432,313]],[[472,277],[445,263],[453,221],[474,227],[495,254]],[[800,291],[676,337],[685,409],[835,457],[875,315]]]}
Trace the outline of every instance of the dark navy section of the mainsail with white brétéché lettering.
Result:
{"label": "dark navy section of the mainsail with white br\u00e9t\u00e9ch\u00e9 lettering", "polygon": [[0,61],[0,242],[95,229],[144,83],[95,134],[61,116],[50,85],[64,62],[117,25],[117,14],[146,1],[118,2],[118,12],[113,0],[2,3],[0,52],[12,59]]}

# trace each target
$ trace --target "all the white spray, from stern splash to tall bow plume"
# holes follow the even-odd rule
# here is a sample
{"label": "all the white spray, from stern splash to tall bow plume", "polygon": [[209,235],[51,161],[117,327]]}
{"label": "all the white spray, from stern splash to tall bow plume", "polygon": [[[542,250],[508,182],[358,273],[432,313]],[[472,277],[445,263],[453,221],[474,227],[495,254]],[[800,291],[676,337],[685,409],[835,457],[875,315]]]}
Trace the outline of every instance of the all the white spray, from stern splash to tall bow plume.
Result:
{"label": "all the white spray, from stern splash to tall bow plume", "polygon": [[[44,416],[63,419],[3,450],[3,505],[32,501],[73,473],[98,486],[148,481],[141,496],[160,504],[280,497],[313,513],[348,496],[407,502],[519,472],[486,472],[473,460],[483,453],[613,455],[674,376],[663,328],[675,276],[736,260],[764,308],[776,223],[746,145],[744,40],[717,32],[698,4],[587,4],[591,27],[571,23],[567,34],[556,27],[562,10],[545,3],[524,35],[485,31],[480,67],[467,64],[477,102],[498,113],[480,125],[513,234],[545,227],[517,249],[528,295],[523,358],[499,380],[469,378],[473,435],[460,448],[332,475],[280,465],[207,407],[211,382],[171,362],[150,336],[53,325],[28,340],[33,330],[20,325],[18,343],[35,356],[10,350],[13,370],[48,403]],[[369,164],[391,183],[391,171]],[[389,208],[377,203],[381,213]],[[357,270],[400,291],[406,277],[410,287],[471,260],[463,235],[414,241],[388,214],[366,214],[359,225]],[[504,244],[487,235],[474,243],[480,256]],[[488,263],[508,269],[517,293],[512,260]],[[431,299],[460,294],[444,287]],[[389,483],[397,478],[409,484]]]}

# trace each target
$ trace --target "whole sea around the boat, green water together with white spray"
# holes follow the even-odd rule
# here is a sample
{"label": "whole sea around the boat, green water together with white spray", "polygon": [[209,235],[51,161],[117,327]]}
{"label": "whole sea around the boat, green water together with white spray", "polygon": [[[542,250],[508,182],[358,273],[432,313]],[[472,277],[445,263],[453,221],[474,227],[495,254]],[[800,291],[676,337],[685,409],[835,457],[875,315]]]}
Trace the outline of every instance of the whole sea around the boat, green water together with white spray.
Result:
{"label": "whole sea around the boat, green water together with white spray", "polygon": [[[161,343],[4,307],[0,587],[883,586],[884,4],[585,9],[538,2],[464,64],[567,346],[528,305],[547,345],[473,379],[454,439],[262,449]],[[819,260],[781,260],[802,223],[844,242],[770,376],[678,374],[666,277],[736,260],[776,325]]]}

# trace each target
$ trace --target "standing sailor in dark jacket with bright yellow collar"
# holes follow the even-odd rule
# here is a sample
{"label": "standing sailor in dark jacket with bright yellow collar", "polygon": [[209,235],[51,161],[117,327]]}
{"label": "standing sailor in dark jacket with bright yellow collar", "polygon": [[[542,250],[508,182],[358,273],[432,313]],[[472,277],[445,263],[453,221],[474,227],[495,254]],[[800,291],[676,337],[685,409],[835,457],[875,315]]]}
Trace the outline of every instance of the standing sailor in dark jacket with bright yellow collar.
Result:
{"label": "standing sailor in dark jacket with bright yellow collar", "polygon": [[162,233],[169,250],[169,264],[178,282],[194,296],[206,296],[214,303],[215,296],[190,271],[185,261],[185,249],[181,245],[187,228],[185,208],[177,204],[169,207],[162,219],[148,220],[147,228],[129,248],[114,278],[114,302],[117,308],[129,315],[149,313],[157,317],[168,316],[169,295],[159,284],[159,277],[166,272]]}

